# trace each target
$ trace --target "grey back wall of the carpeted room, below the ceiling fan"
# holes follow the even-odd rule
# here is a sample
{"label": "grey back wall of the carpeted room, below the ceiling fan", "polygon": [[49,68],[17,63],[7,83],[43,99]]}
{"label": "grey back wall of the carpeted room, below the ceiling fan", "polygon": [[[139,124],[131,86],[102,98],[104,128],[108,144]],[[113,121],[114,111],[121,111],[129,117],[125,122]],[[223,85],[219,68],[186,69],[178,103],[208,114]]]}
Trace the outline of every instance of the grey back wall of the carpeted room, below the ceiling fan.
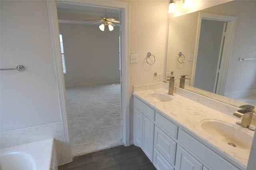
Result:
{"label": "grey back wall of the carpeted room, below the ceiling fan", "polygon": [[[106,27],[106,29],[108,29]],[[119,27],[59,23],[63,36],[66,86],[120,82]]]}

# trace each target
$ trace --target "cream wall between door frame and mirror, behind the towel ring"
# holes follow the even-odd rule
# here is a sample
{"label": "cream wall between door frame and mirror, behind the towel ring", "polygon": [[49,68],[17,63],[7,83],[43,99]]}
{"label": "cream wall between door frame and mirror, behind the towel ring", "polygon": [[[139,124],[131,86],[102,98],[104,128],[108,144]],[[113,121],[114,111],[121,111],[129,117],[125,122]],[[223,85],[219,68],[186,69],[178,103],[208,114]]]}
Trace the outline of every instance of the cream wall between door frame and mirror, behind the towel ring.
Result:
{"label": "cream wall between door frame and mirror, behind the towel ring", "polygon": [[[164,76],[169,1],[126,0],[126,2],[130,3],[130,54],[139,55],[139,63],[130,64],[130,139],[132,140],[132,88],[137,84],[158,82],[154,78],[154,72],[162,73]],[[156,57],[153,65],[146,63],[148,52]]]}

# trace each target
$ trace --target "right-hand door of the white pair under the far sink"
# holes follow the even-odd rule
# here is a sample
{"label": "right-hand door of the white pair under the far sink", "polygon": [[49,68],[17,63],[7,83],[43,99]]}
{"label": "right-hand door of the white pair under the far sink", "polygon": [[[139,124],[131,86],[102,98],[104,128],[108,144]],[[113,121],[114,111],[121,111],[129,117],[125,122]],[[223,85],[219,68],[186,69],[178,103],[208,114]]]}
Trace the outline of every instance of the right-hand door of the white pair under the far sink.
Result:
{"label": "right-hand door of the white pair under the far sink", "polygon": [[143,116],[143,144],[142,150],[153,162],[153,149],[154,149],[154,123],[146,116]]}

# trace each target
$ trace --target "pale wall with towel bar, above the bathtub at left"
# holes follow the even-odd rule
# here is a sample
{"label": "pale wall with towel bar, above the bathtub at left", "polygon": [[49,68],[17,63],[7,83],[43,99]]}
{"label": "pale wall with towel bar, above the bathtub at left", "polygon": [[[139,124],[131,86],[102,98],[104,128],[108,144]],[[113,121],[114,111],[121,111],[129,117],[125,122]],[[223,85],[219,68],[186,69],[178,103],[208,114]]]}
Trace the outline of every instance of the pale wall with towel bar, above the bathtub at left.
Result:
{"label": "pale wall with towel bar, above the bathtub at left", "polygon": [[66,152],[46,1],[4,1],[1,12],[1,147],[55,138]]}

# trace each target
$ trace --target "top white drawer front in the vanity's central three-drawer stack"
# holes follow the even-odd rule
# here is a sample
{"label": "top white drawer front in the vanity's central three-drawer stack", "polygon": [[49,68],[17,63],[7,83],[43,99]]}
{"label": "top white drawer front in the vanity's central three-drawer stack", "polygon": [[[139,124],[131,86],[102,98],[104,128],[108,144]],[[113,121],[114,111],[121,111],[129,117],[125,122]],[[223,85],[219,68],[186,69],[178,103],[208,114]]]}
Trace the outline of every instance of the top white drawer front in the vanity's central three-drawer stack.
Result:
{"label": "top white drawer front in the vanity's central three-drawer stack", "polygon": [[178,126],[174,125],[172,122],[170,122],[168,119],[160,115],[160,113],[156,112],[156,124],[158,124],[159,127],[161,127],[167,135],[170,135],[171,137],[174,137],[177,139],[178,136]]}

